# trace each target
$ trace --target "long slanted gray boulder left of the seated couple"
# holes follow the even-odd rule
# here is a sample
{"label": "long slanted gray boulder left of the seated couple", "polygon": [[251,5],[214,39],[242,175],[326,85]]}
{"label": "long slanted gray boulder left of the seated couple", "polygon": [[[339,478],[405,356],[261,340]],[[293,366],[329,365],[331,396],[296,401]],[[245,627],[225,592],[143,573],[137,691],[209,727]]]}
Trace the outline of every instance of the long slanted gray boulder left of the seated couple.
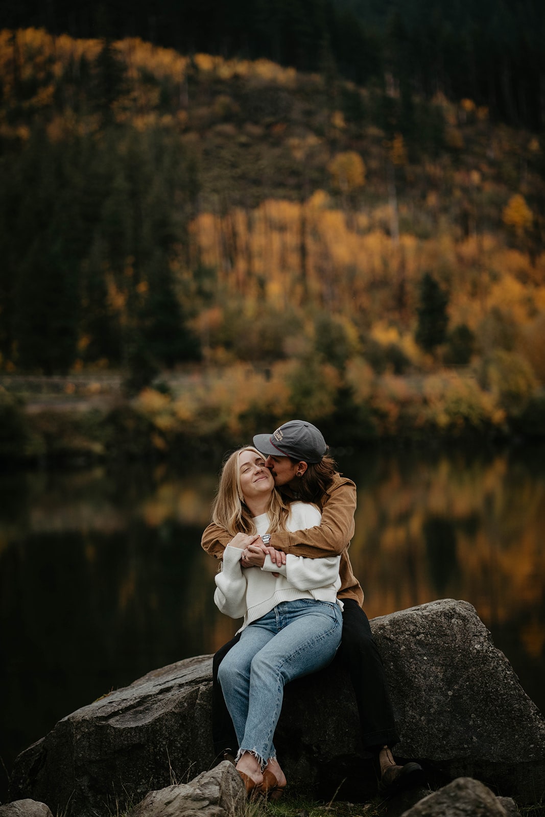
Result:
{"label": "long slanted gray boulder left of the seated couple", "polygon": [[212,765],[211,690],[204,655],[76,710],[16,759],[11,797],[41,792],[54,812],[102,817],[193,779]]}

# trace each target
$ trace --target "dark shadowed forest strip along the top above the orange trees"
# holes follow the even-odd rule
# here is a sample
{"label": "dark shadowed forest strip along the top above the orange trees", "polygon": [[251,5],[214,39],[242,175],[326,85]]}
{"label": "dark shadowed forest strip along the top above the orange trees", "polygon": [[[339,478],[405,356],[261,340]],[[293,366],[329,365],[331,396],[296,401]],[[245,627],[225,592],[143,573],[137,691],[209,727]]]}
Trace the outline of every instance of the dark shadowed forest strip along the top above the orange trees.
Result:
{"label": "dark shadowed forest strip along the top above the orange trees", "polygon": [[359,84],[393,83],[407,100],[468,97],[494,118],[534,129],[545,123],[544,22],[539,0],[9,0],[0,17],[7,28],[266,57]]}

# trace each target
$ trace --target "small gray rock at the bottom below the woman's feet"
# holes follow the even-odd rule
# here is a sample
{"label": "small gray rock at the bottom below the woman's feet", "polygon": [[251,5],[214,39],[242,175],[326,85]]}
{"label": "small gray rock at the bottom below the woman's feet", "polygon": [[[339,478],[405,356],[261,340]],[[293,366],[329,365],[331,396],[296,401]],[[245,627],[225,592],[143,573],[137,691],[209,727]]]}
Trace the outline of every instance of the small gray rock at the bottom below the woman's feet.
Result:
{"label": "small gray rock at the bottom below the woman's feet", "polygon": [[150,792],[128,817],[233,817],[243,814],[246,790],[235,766],[223,761],[190,783]]}

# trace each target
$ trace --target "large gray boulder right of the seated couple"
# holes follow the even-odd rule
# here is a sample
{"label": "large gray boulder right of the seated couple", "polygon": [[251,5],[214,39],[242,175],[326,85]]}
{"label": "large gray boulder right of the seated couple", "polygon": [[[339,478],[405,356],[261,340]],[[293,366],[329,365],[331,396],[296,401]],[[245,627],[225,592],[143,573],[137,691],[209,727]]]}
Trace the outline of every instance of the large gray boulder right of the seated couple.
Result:
{"label": "large gray boulder right of the seated couple", "polygon": [[449,779],[503,793],[545,789],[545,721],[489,631],[464,601],[443,600],[373,621],[401,726],[395,752]]}

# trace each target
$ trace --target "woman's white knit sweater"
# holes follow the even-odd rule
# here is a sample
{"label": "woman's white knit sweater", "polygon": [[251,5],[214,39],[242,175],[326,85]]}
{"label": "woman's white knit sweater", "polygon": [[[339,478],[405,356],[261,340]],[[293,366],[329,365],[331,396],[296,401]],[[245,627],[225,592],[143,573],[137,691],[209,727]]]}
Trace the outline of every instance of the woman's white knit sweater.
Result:
{"label": "woman's white knit sweater", "polygon": [[[314,528],[320,519],[321,514],[315,505],[292,502],[286,527],[290,531]],[[253,521],[257,533],[266,534],[268,515],[261,514]],[[340,556],[309,559],[288,554],[286,564],[278,567],[267,555],[262,568],[242,568],[241,558],[239,547],[226,547],[221,573],[216,575],[214,593],[214,601],[222,613],[230,618],[244,618],[240,630],[269,613],[281,601],[315,599],[332,604],[337,602],[342,609],[342,602],[337,600],[337,590],[341,587]]]}

